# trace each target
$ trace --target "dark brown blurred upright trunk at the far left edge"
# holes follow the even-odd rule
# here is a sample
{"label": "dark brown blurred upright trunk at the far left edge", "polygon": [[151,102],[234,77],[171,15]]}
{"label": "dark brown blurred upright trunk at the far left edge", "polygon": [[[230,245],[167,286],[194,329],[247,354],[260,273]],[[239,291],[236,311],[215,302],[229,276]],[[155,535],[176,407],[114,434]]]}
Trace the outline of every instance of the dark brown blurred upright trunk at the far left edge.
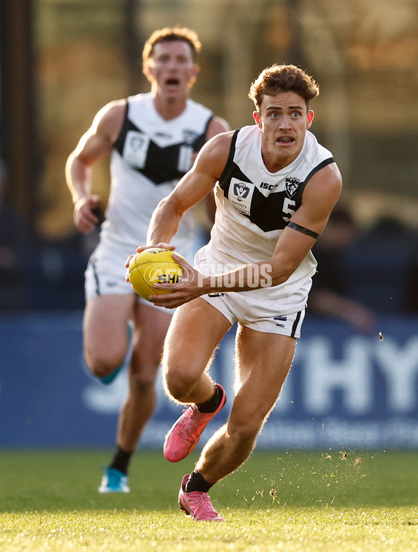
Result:
{"label": "dark brown blurred upright trunk at the far left edge", "polygon": [[0,155],[8,166],[12,203],[31,226],[40,159],[32,29],[32,0],[0,2]]}

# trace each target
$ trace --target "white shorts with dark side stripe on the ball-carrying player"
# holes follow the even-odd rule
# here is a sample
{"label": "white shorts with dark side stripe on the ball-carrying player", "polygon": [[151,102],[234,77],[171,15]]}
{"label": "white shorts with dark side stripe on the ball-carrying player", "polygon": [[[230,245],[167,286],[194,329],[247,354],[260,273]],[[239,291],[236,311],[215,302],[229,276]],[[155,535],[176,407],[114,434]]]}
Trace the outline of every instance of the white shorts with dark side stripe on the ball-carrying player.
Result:
{"label": "white shorts with dark side stripe on the ball-carrying player", "polygon": [[283,315],[278,314],[283,312],[280,299],[256,299],[245,292],[211,293],[201,298],[219,310],[231,325],[238,322],[256,331],[300,338],[306,307],[297,313]]}

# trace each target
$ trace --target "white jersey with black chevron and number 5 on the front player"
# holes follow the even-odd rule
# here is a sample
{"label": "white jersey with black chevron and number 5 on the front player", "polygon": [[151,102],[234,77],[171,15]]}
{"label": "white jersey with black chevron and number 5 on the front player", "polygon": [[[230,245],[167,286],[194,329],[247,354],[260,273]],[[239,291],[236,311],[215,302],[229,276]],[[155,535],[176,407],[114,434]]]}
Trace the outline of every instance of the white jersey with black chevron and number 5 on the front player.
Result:
{"label": "white jersey with black chevron and number 5 on the front player", "polygon": [[[261,130],[251,125],[235,131],[229,159],[217,182],[215,225],[210,242],[196,253],[196,267],[203,274],[220,274],[271,258],[277,239],[302,203],[307,182],[333,162],[331,152],[308,131],[297,158],[270,173],[261,155]],[[242,293],[288,297],[302,287],[309,290],[307,282],[315,271],[316,260],[309,252],[286,282]]]}

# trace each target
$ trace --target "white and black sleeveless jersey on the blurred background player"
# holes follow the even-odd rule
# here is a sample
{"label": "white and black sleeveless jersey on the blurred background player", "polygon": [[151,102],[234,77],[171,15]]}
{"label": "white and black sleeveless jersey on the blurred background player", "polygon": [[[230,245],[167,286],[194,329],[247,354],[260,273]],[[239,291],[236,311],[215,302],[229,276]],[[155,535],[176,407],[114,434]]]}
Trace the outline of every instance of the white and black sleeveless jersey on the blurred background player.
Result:
{"label": "white and black sleeveless jersey on the blurred background player", "polygon": [[[111,249],[127,258],[146,244],[148,223],[159,201],[169,195],[192,166],[192,156],[206,142],[213,113],[187,100],[183,113],[164,120],[150,93],[127,99],[125,120],[111,153],[111,188],[100,243],[93,255]],[[185,216],[172,243],[191,254],[192,216]]]}

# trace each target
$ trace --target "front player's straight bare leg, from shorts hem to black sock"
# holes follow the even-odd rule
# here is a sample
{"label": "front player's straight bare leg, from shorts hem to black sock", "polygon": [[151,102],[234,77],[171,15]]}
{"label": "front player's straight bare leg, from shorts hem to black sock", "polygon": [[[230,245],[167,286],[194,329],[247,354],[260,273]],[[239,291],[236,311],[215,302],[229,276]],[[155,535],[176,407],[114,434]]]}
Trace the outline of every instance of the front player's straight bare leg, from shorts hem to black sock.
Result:
{"label": "front player's straight bare leg, from shorts hem to black sock", "polygon": [[209,484],[249,457],[279,396],[295,354],[294,338],[241,328],[237,339],[238,384],[228,423],[208,441],[195,471]]}

